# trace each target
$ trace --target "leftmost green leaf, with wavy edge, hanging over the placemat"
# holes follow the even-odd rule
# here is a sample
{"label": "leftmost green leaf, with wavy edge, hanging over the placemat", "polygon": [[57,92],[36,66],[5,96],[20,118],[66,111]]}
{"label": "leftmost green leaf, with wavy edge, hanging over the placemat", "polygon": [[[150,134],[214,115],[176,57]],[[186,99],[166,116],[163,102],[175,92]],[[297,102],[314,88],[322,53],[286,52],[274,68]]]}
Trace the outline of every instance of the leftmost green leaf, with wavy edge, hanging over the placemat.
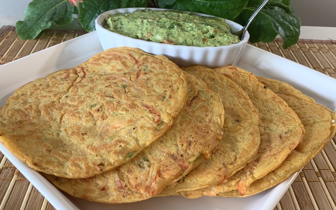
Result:
{"label": "leftmost green leaf, with wavy edge, hanging over the placemat", "polygon": [[52,22],[66,25],[73,21],[74,7],[68,0],[33,0],[25,10],[25,19],[16,23],[20,39],[35,39]]}

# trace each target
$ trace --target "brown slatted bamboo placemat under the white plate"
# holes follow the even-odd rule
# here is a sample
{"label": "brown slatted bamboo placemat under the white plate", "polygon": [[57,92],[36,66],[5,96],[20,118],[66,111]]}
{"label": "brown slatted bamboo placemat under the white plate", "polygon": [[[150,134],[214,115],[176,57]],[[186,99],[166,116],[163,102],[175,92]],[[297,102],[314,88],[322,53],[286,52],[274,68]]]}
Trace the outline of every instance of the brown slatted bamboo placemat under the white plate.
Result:
{"label": "brown slatted bamboo placemat under the white plate", "polygon": [[[45,30],[35,40],[19,40],[14,27],[2,27],[0,65],[85,33]],[[287,50],[282,49],[282,41],[278,39],[267,44],[253,45],[336,78],[335,40],[299,40]],[[336,137],[303,168],[275,209],[336,210],[335,143]],[[0,201],[0,210],[54,209],[2,153],[0,153]]]}

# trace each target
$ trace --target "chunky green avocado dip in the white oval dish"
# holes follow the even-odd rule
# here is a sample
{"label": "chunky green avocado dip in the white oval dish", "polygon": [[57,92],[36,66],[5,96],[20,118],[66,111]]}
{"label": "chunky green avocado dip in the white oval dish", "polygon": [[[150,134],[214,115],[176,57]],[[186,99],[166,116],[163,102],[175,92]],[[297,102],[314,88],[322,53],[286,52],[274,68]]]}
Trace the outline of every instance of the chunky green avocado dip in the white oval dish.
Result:
{"label": "chunky green avocado dip in the white oval dish", "polygon": [[239,42],[223,18],[176,10],[138,9],[110,14],[103,26],[124,36],[166,44],[215,47]]}

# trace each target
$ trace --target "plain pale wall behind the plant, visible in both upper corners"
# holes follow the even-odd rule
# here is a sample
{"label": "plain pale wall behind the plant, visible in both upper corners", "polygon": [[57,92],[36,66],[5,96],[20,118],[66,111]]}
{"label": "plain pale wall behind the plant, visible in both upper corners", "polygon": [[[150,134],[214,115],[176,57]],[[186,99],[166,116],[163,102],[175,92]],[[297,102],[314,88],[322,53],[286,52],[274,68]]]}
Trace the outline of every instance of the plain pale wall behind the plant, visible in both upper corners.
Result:
{"label": "plain pale wall behind the plant, visible in both upper corners", "polygon": [[[23,20],[29,2],[31,0],[0,0],[0,27]],[[292,3],[303,26],[336,27],[336,0],[292,0]]]}

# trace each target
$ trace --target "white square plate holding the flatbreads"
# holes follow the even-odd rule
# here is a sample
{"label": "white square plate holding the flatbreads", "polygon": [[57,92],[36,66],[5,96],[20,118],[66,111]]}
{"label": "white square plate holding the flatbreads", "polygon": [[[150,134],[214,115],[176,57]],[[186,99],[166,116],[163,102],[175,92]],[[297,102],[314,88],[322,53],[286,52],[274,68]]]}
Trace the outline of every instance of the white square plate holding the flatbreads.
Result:
{"label": "white square plate holding the flatbreads", "polygon": [[[102,48],[97,33],[92,32],[0,66],[0,107],[20,86],[45,77],[56,70],[73,68],[100,51]],[[251,45],[246,46],[237,66],[255,75],[290,83],[318,103],[322,103],[333,111],[336,110],[336,94],[334,93],[336,80],[327,75]],[[1,143],[0,151],[58,210],[271,210],[298,175],[298,172],[294,173],[281,184],[246,198],[202,197],[191,200],[179,196],[168,196],[130,204],[100,204],[73,198],[60,192],[38,172],[16,158]]]}

